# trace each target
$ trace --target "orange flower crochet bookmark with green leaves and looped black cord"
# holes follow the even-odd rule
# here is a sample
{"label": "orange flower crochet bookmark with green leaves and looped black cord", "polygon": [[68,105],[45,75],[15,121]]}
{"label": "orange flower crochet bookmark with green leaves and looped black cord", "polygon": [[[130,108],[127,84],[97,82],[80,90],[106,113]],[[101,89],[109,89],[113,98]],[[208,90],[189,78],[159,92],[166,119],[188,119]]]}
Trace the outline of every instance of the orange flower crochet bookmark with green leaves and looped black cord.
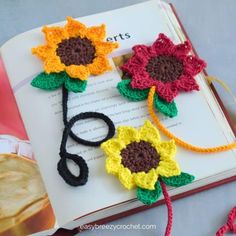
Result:
{"label": "orange flower crochet bookmark with green leaves and looped black cord", "polygon": [[[77,143],[97,147],[114,136],[115,127],[109,117],[98,112],[80,113],[68,121],[68,91],[82,93],[86,89],[90,74],[100,75],[111,70],[107,55],[116,49],[118,44],[104,41],[105,25],[86,27],[71,17],[67,17],[67,24],[64,27],[45,26],[42,31],[45,34],[46,44],[33,48],[32,53],[43,61],[44,72],[37,75],[31,85],[48,91],[62,87],[65,129],[59,153],[61,159],[57,169],[69,185],[84,185],[88,180],[88,166],[83,157],[67,152],[68,136]],[[71,130],[77,121],[88,118],[101,119],[106,123],[108,133],[104,139],[96,142],[84,140]],[[68,159],[79,167],[79,176],[75,176],[69,170]]]}

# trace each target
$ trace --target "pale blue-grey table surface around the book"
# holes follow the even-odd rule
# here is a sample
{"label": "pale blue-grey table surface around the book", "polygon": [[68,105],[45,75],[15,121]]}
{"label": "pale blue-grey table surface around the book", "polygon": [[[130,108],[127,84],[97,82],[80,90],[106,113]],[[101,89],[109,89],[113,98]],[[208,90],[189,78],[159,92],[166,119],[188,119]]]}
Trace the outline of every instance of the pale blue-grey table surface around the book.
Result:
{"label": "pale blue-grey table surface around the book", "polygon": [[[64,20],[66,16],[85,16],[120,8],[144,0],[0,0],[0,45],[32,28]],[[236,94],[235,0],[172,0],[208,72],[225,81]],[[231,115],[235,103],[216,86]],[[229,183],[173,202],[173,236],[213,236],[236,205],[236,182]],[[166,207],[159,206],[120,220],[112,225],[155,225],[149,230],[95,230],[82,235],[164,235]]]}

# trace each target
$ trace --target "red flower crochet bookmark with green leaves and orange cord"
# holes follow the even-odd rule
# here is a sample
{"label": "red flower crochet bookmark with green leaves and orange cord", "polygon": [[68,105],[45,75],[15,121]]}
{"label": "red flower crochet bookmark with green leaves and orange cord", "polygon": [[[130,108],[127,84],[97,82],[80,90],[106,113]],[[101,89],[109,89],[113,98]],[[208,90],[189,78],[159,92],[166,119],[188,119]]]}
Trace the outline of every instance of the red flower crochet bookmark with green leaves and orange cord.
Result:
{"label": "red flower crochet bookmark with green leaves and orange cord", "polygon": [[213,153],[236,148],[236,142],[217,147],[198,147],[172,134],[159,120],[155,110],[168,117],[177,115],[174,98],[179,91],[199,90],[194,76],[206,63],[189,55],[189,41],[175,45],[167,36],[160,34],[151,46],[136,45],[133,56],[121,67],[126,79],[118,83],[119,93],[132,101],[147,99],[149,114],[154,124],[179,146],[200,153]]}

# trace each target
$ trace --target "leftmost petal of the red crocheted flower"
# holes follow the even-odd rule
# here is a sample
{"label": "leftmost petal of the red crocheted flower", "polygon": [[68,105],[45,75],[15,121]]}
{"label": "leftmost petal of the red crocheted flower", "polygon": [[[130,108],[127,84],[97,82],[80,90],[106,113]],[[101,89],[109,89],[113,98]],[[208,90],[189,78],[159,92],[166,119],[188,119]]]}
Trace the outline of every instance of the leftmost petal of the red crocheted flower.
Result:
{"label": "leftmost petal of the red crocheted flower", "polygon": [[142,60],[134,55],[120,68],[130,75],[134,75],[137,71],[145,70],[145,64],[146,60]]}

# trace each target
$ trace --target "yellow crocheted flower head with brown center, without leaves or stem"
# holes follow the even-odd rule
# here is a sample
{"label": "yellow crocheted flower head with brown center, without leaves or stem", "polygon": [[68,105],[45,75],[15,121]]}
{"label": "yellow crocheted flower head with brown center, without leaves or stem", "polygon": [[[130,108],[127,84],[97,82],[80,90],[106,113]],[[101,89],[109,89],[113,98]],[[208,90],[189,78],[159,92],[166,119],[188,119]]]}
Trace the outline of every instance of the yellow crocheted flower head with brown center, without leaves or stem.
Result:
{"label": "yellow crocheted flower head with brown center, without leaves or stem", "polygon": [[153,190],[159,176],[172,177],[181,173],[173,159],[174,140],[161,141],[150,121],[139,130],[119,127],[117,138],[104,142],[101,147],[107,155],[107,172],[116,175],[127,189],[138,186]]}

